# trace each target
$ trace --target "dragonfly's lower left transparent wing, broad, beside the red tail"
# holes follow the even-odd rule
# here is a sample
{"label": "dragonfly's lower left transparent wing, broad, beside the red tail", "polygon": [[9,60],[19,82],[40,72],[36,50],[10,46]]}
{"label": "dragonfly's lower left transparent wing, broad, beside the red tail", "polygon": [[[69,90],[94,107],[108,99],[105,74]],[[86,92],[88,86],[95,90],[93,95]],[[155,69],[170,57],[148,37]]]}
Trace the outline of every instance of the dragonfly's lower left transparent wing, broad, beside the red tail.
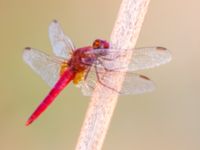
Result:
{"label": "dragonfly's lower left transparent wing, broad, beside the red tail", "polygon": [[60,66],[64,60],[32,48],[25,48],[23,59],[49,86],[53,87],[59,79]]}

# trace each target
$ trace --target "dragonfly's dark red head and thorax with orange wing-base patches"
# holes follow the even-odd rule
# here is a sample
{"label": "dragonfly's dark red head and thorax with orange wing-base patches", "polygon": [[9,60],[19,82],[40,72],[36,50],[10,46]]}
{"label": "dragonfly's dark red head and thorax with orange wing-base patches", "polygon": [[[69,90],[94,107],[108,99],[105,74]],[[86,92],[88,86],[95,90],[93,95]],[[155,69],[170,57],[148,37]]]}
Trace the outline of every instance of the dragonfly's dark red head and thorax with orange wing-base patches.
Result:
{"label": "dragonfly's dark red head and thorax with orange wing-base patches", "polygon": [[78,84],[83,80],[85,73],[97,61],[98,57],[107,55],[108,48],[109,43],[107,41],[97,39],[92,46],[75,50],[68,63],[63,63],[61,66],[60,74],[62,75],[68,67],[71,67],[76,72],[73,82]]}

